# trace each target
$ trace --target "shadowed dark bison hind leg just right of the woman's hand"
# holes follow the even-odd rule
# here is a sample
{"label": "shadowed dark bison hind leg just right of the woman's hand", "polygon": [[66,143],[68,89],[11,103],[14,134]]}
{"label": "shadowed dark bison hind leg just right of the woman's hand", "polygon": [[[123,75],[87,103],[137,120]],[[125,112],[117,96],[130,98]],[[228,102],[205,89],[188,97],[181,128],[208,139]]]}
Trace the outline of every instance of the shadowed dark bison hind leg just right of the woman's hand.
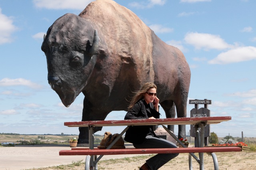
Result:
{"label": "shadowed dark bison hind leg just right of the woman's hand", "polygon": [[[160,105],[164,109],[166,118],[175,118],[176,110],[175,104],[172,100],[165,100],[161,102]],[[174,132],[174,125],[168,125],[168,129]]]}

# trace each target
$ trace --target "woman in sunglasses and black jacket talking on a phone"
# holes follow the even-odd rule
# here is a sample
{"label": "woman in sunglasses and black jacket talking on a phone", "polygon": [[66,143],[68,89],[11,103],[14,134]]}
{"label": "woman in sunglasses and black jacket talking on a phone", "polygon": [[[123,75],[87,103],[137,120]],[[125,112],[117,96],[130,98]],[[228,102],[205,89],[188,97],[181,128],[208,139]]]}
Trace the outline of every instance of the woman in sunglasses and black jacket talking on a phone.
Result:
{"label": "woman in sunglasses and black jacket talking on a phone", "polygon": [[[129,111],[124,119],[159,119],[158,103],[156,85],[145,83],[132,98],[128,107]],[[177,148],[176,144],[156,136],[152,125],[130,126],[126,131],[124,140],[132,143],[135,148]],[[157,170],[176,156],[178,156],[178,153],[156,154],[146,160],[140,170]]]}

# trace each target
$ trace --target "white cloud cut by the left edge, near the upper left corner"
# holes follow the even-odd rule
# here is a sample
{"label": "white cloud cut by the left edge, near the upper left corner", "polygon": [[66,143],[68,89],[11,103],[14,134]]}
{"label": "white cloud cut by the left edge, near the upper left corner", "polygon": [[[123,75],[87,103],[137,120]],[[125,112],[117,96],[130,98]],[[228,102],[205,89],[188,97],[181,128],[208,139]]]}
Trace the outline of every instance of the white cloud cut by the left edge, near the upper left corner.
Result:
{"label": "white cloud cut by the left edge, near the upper left corner", "polygon": [[16,30],[17,28],[13,25],[12,18],[2,14],[2,9],[0,8],[0,44],[12,42],[11,35]]}

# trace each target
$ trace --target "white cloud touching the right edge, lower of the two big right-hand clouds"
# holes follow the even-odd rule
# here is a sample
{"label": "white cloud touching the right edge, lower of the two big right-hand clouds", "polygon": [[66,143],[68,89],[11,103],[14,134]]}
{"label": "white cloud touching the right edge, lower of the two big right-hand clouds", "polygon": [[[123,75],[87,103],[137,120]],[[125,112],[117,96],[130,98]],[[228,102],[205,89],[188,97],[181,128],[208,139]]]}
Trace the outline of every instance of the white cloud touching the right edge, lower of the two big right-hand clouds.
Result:
{"label": "white cloud touching the right edge, lower of the two big right-hand clouds", "polygon": [[241,61],[256,59],[256,47],[237,47],[229,51],[220,53],[216,58],[210,60],[210,64],[229,64]]}

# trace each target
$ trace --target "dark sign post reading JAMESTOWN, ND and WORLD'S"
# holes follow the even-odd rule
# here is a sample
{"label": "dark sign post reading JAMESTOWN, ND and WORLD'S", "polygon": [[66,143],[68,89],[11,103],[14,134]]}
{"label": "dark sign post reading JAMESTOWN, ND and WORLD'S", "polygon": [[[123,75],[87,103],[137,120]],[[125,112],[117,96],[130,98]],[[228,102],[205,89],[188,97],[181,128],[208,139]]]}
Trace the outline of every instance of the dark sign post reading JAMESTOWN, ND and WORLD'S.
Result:
{"label": "dark sign post reading JAMESTOWN, ND and WORLD'S", "polygon": [[[212,104],[211,100],[189,100],[189,104],[194,104],[195,108],[190,111],[190,117],[210,117],[210,110],[208,105]],[[204,105],[204,107],[198,109],[198,105]],[[195,138],[195,147],[197,147],[196,131],[194,125],[190,125],[190,136]],[[204,145],[208,146],[208,138],[210,136],[210,125],[206,125],[204,128]]]}

